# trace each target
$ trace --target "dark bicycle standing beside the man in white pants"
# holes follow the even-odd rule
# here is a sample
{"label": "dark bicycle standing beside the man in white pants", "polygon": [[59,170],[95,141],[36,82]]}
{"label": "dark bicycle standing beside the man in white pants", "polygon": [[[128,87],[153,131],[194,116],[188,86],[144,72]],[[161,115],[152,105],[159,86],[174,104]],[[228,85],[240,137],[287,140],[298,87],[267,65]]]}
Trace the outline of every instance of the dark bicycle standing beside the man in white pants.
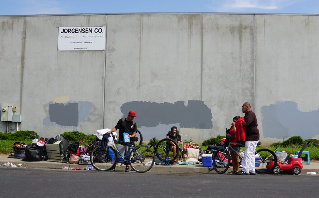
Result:
{"label": "dark bicycle standing beside the man in white pants", "polygon": [[[258,142],[257,145],[260,145],[261,142]],[[218,173],[218,174],[223,174],[225,173],[229,166],[230,166],[230,154],[229,154],[229,150],[231,149],[232,151],[234,151],[234,153],[236,155],[238,155],[238,157],[242,160],[243,157],[238,154],[234,148],[231,146],[238,146],[238,147],[245,147],[245,145],[239,144],[239,143],[229,143],[229,145],[226,148],[219,148],[213,158],[213,167],[214,170]],[[267,174],[270,173],[272,170],[274,170],[274,168],[277,165],[277,155],[270,149],[268,148],[261,148],[255,151],[255,166],[256,166],[256,173],[258,174]],[[269,162],[274,161],[274,164],[272,165],[271,168],[267,169],[267,164],[269,164]],[[241,162],[239,162],[239,164],[241,164]]]}

